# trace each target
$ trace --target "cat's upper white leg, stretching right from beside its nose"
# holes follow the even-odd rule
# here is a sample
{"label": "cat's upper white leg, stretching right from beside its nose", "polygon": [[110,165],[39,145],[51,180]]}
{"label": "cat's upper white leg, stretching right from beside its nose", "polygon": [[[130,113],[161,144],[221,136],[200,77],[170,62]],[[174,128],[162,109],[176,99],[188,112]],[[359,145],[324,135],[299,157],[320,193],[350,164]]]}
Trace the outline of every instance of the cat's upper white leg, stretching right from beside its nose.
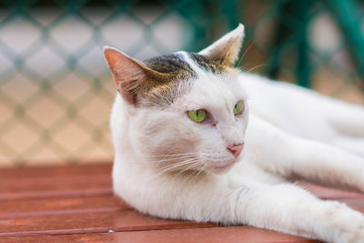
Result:
{"label": "cat's upper white leg, stretching right from beside its nose", "polygon": [[364,192],[363,158],[317,141],[289,136],[257,116],[250,118],[248,161],[281,177]]}

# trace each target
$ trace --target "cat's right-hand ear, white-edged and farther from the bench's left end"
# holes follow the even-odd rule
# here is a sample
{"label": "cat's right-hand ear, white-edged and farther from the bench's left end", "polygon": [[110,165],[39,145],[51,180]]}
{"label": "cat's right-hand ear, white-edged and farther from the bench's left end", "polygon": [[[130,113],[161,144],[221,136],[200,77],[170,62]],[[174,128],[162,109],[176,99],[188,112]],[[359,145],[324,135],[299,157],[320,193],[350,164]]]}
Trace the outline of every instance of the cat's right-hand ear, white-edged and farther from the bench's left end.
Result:
{"label": "cat's right-hand ear, white-edged and farther from the bench's left end", "polygon": [[226,66],[232,66],[238,60],[243,38],[244,25],[239,24],[236,29],[222,36],[198,54],[207,59],[221,60]]}

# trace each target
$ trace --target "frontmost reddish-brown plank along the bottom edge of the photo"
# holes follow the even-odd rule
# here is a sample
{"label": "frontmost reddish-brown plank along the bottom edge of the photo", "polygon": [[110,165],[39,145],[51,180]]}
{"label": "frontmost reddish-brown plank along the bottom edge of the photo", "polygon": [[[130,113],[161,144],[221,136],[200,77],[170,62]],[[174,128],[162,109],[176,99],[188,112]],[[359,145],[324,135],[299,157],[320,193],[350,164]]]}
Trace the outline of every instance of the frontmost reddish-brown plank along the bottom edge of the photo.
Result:
{"label": "frontmost reddish-brown plank along the bottom edge of the photo", "polygon": [[5,237],[0,242],[198,242],[198,243],[313,243],[308,238],[298,238],[282,233],[250,227],[183,228],[147,230],[137,232],[115,232],[100,234],[43,235],[27,237]]}

